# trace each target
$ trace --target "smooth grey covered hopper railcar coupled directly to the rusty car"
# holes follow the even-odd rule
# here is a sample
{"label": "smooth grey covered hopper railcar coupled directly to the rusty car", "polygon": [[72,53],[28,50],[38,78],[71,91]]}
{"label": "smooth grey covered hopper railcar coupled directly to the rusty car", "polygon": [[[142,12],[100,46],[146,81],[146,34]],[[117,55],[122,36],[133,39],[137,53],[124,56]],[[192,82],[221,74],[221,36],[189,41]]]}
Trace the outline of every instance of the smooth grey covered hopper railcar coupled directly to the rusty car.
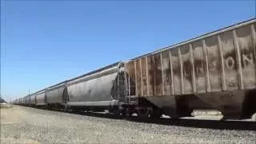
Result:
{"label": "smooth grey covered hopper railcar coupled directly to the rusty car", "polygon": [[73,78],[66,82],[66,105],[73,108],[101,109],[118,106],[115,84],[118,82],[122,62]]}

